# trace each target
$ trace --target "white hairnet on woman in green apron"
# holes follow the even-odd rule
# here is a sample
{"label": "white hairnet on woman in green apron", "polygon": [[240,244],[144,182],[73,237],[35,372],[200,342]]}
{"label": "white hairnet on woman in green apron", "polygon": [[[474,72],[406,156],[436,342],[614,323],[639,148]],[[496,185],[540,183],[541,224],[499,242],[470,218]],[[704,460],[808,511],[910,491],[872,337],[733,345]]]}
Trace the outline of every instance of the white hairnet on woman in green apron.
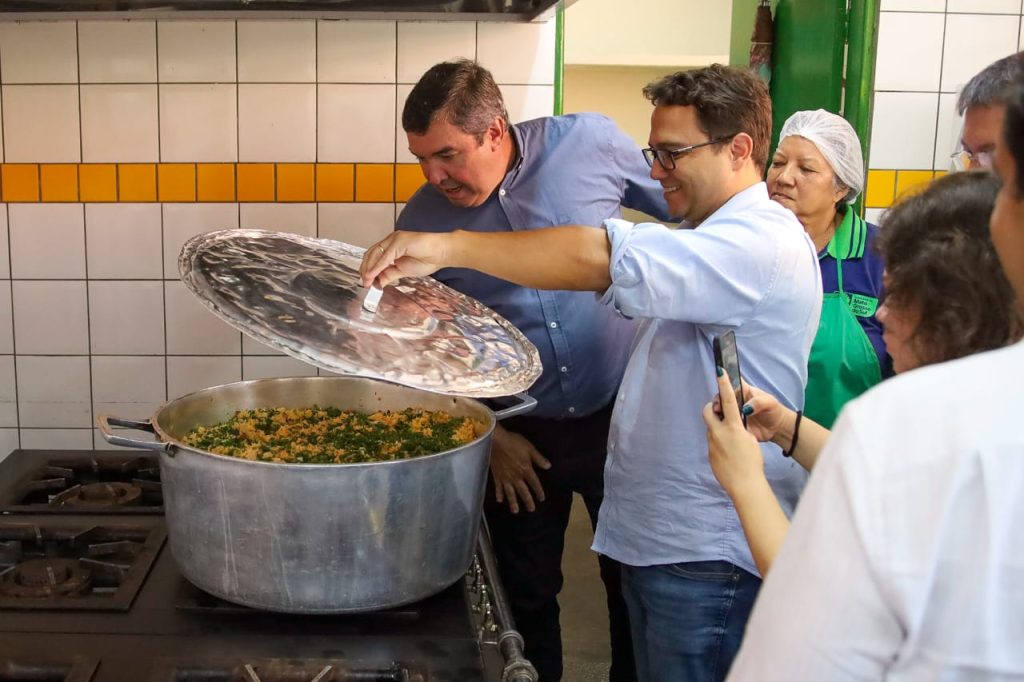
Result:
{"label": "white hairnet on woman in green apron", "polygon": [[778,141],[791,135],[810,140],[836,173],[836,179],[850,188],[844,200],[852,204],[864,190],[864,155],[860,139],[846,119],[823,109],[797,112],[782,124]]}

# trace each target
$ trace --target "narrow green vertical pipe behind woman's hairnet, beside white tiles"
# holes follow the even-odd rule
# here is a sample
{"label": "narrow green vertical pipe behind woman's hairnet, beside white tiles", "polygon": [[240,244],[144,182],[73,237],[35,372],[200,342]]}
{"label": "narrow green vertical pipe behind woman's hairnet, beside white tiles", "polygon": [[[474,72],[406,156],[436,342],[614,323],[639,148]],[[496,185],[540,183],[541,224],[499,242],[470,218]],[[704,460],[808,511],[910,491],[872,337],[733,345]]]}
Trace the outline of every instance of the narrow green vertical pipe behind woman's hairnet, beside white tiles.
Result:
{"label": "narrow green vertical pipe behind woman's hairnet, beside white tiles", "polygon": [[[860,137],[864,168],[868,168],[871,113],[874,102],[874,55],[879,46],[879,0],[852,0],[847,34],[846,105],[844,115]],[[859,211],[863,196],[857,200]]]}

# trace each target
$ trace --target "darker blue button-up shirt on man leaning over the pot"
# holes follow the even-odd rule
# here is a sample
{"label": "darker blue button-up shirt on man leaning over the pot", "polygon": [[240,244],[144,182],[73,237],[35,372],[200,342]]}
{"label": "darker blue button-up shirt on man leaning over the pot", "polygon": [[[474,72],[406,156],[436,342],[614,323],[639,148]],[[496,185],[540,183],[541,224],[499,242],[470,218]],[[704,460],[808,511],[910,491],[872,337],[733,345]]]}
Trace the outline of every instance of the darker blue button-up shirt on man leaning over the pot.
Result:
{"label": "darker blue button-up shirt on man leaning over the pot", "polygon": [[[574,114],[511,127],[517,160],[480,206],[452,205],[421,187],[397,228],[509,231],[602,224],[620,205],[669,219],[662,186],[637,145],[609,119]],[[447,268],[434,276],[515,325],[537,346],[544,373],[530,388],[536,417],[583,417],[606,406],[626,368],[635,326],[587,292],[524,289],[479,272]]]}

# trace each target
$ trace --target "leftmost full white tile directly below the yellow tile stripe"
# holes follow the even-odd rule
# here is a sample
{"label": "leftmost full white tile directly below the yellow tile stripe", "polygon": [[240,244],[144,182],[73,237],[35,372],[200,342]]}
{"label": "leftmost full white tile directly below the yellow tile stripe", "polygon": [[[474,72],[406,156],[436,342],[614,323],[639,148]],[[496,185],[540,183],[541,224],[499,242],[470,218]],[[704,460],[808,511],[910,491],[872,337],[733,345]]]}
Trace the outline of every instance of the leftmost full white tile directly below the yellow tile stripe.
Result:
{"label": "leftmost full white tile directly below the yellow tile stripe", "polygon": [[15,280],[85,278],[81,204],[10,204],[10,268]]}

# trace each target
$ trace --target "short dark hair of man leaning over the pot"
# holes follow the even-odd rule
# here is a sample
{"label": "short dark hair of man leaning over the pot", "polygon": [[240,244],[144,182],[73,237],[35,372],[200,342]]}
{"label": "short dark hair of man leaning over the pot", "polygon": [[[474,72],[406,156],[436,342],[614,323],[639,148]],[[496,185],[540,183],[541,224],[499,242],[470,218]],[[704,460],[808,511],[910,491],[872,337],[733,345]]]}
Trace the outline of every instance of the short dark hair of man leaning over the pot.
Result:
{"label": "short dark hair of man leaning over the pot", "polygon": [[401,127],[423,135],[435,120],[446,121],[483,142],[496,118],[508,125],[502,91],[490,72],[470,59],[434,65],[413,87],[401,111]]}

